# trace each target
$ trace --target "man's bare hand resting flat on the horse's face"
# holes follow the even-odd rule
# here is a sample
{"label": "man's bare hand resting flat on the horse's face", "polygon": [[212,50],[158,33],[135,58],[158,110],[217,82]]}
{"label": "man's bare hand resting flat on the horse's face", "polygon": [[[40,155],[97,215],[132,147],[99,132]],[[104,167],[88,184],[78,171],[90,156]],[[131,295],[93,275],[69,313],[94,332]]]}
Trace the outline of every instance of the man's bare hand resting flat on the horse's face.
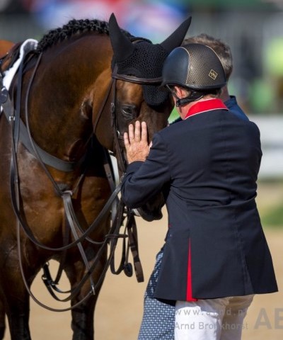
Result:
{"label": "man's bare hand resting flat on the horse's face", "polygon": [[146,160],[150,146],[147,142],[147,128],[145,122],[136,121],[135,125],[129,125],[129,133],[124,133],[124,142],[128,163]]}

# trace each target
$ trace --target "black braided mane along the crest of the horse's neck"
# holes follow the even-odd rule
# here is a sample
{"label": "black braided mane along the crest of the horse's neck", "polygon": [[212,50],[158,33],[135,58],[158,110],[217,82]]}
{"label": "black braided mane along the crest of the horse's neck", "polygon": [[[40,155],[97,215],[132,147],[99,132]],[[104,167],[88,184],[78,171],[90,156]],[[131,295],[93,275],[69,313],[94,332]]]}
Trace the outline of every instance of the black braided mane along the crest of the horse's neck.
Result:
{"label": "black braided mane along the crest of the horse's neck", "polygon": [[[134,38],[126,30],[122,30],[122,31],[129,38]],[[68,38],[71,38],[71,36],[73,35],[81,34],[85,32],[97,32],[97,33],[105,33],[109,35],[108,22],[100,21],[98,19],[93,19],[93,20],[73,19],[69,21],[69,23],[62,26],[62,28],[55,28],[54,30],[50,30],[48,33],[43,35],[42,39],[38,42],[36,52],[43,52],[47,50],[47,48],[56,45],[58,42],[67,40]]]}

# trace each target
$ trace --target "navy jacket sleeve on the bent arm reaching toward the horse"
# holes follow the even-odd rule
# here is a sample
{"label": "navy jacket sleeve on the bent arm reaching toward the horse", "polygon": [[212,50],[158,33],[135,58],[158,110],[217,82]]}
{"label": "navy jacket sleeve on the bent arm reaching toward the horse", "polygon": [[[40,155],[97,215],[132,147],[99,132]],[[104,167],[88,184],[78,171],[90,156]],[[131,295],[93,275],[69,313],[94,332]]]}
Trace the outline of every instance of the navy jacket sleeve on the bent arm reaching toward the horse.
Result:
{"label": "navy jacket sleeve on the bent arm reaching toward the horse", "polygon": [[146,161],[128,165],[122,180],[122,200],[129,208],[139,208],[169,180],[168,150],[161,136],[156,134]]}

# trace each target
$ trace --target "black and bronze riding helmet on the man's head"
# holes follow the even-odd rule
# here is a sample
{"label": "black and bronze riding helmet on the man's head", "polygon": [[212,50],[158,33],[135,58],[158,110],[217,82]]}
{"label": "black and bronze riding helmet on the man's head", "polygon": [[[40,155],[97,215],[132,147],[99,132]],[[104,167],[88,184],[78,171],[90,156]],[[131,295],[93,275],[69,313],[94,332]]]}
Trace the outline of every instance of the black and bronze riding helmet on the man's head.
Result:
{"label": "black and bronze riding helmet on the man's head", "polygon": [[207,45],[176,47],[163,65],[163,86],[180,85],[192,91],[207,92],[226,85],[223,66]]}

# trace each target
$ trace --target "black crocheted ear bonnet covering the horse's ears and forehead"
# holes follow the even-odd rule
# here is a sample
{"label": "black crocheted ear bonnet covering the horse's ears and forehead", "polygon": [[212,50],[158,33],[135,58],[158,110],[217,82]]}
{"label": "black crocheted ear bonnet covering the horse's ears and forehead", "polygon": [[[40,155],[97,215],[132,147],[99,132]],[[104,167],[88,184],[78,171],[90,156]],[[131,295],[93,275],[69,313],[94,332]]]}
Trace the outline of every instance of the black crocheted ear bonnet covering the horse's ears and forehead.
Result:
{"label": "black crocheted ear bonnet covering the horse's ears and forehead", "polygon": [[117,25],[114,14],[109,20],[109,36],[114,52],[112,70],[117,67],[117,74],[144,79],[160,78],[158,83],[143,84],[144,101],[149,106],[161,106],[168,98],[169,91],[161,85],[162,68],[169,53],[181,45],[191,19],[184,21],[174,33],[161,44],[150,40],[125,35]]}

